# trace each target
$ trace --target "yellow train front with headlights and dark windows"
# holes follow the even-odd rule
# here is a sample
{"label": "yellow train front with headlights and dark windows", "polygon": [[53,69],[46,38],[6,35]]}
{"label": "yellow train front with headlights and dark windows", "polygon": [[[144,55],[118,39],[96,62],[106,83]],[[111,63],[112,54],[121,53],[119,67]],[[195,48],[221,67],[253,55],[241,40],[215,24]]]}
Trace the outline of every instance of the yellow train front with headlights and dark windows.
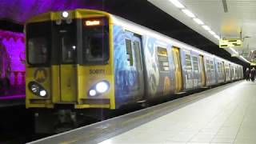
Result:
{"label": "yellow train front with headlights and dark windows", "polygon": [[36,112],[38,132],[76,125],[74,110],[115,109],[109,19],[97,10],[72,10],[26,23],[26,107]]}

